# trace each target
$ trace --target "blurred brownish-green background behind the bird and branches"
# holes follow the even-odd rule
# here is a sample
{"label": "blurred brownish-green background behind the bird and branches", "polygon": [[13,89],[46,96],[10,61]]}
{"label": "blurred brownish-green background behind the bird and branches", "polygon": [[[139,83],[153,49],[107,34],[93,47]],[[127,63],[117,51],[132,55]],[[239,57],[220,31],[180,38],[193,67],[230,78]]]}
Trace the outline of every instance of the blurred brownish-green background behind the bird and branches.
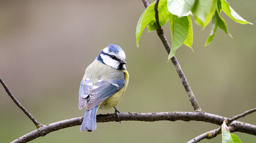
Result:
{"label": "blurred brownish-green background behind the bird and branches", "polygon": [[[256,1],[228,2],[243,18],[256,23]],[[38,122],[83,116],[78,92],[84,70],[101,49],[115,43],[127,54],[130,74],[118,105],[121,112],[193,111],[156,33],[143,32],[136,47],[135,28],[143,11],[143,3],[135,0],[0,1],[0,76]],[[256,28],[221,15],[233,39],[218,29],[213,42],[204,47],[210,26],[202,30],[193,22],[194,53],[182,46],[176,57],[201,108],[233,117],[256,105]],[[168,24],[163,29],[170,42]],[[35,129],[2,87],[0,116],[0,142],[11,142]],[[256,125],[256,116],[240,121]],[[32,142],[186,142],[218,126],[131,121],[98,123],[91,133],[79,128],[62,129]],[[243,142],[256,142],[255,136],[236,134]],[[201,142],[221,142],[221,136]]]}

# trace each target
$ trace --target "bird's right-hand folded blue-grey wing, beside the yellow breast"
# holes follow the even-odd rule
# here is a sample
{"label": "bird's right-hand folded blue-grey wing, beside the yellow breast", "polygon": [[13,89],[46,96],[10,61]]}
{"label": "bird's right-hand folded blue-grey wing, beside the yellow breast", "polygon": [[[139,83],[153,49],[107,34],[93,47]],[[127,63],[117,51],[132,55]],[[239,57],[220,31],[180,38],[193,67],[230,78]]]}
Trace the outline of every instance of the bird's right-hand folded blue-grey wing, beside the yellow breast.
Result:
{"label": "bird's right-hand folded blue-grey wing, beside the yellow breast", "polygon": [[101,102],[118,92],[125,85],[125,76],[121,80],[112,80],[110,82],[99,80],[91,91],[87,109],[99,105]]}

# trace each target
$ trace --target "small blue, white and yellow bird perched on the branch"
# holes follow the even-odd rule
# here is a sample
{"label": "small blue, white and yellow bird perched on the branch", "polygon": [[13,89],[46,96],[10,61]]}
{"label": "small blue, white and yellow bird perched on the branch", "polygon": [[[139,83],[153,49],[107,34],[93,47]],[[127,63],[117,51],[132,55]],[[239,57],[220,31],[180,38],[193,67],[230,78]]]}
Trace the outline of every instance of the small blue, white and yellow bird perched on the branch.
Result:
{"label": "small blue, white and yellow bird perched on the branch", "polygon": [[79,89],[79,109],[86,107],[80,131],[97,128],[96,113],[115,107],[122,99],[129,82],[125,52],[118,45],[104,48],[85,70]]}

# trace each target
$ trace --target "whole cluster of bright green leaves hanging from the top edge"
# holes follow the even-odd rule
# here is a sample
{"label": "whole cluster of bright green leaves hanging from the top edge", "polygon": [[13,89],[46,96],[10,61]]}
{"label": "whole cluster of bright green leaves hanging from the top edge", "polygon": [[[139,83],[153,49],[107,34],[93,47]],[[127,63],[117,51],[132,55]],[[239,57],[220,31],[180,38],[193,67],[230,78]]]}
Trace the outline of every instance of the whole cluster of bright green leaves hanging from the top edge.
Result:
{"label": "whole cluster of bright green leaves hanging from the top edge", "polygon": [[[141,14],[136,28],[137,46],[140,36],[147,26],[148,32],[156,30],[155,2],[149,5]],[[168,60],[176,54],[176,50],[183,44],[192,49],[193,30],[191,15],[195,23],[201,27],[206,27],[212,21],[210,35],[205,46],[208,45],[215,36],[217,28],[221,28],[230,35],[227,24],[220,13],[224,11],[232,20],[240,24],[252,24],[240,17],[225,0],[161,0],[158,4],[158,16],[160,26],[169,21],[171,30],[171,51]],[[230,35],[231,36],[231,35]],[[232,36],[231,36],[232,38]],[[192,49],[193,50],[193,49]]]}

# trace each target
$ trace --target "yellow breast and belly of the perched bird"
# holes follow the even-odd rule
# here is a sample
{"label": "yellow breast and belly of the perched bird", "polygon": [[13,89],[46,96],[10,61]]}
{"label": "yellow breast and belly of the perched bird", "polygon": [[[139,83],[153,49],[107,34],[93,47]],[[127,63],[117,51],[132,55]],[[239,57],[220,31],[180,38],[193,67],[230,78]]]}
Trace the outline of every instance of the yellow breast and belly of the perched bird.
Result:
{"label": "yellow breast and belly of the perched bird", "polygon": [[125,86],[121,88],[118,92],[113,94],[111,97],[107,98],[107,100],[103,101],[100,105],[100,109],[109,109],[119,104],[122,97],[124,96],[125,89],[127,89],[127,85],[129,82],[129,73],[127,70],[122,70],[125,74]]}

